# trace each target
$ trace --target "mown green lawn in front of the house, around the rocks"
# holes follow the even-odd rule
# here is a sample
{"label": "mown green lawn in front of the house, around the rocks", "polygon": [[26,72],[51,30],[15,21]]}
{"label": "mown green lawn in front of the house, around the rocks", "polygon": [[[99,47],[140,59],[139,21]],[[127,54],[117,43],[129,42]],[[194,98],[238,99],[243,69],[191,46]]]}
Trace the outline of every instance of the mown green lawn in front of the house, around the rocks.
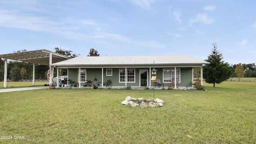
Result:
{"label": "mown green lawn in front of the house, around the rocks", "polygon": [[160,108],[126,96],[153,90],[41,89],[0,93],[0,143],[256,143],[256,82],[204,84],[207,91],[155,90]]}

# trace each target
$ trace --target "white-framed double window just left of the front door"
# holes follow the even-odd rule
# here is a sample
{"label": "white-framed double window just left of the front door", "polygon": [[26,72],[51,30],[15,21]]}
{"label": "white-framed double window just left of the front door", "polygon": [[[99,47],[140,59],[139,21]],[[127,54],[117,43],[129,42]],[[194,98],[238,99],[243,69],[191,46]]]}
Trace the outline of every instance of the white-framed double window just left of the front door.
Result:
{"label": "white-framed double window just left of the front door", "polygon": [[125,74],[127,75],[127,82],[135,82],[135,69],[119,69],[119,82],[125,82]]}

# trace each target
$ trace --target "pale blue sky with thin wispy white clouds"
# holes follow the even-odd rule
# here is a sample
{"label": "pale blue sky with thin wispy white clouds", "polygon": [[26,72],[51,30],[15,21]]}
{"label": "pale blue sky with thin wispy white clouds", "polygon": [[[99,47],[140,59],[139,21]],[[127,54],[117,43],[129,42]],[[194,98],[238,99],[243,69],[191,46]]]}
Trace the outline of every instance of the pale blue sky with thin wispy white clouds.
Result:
{"label": "pale blue sky with thin wispy white clouds", "polygon": [[1,0],[0,54],[62,48],[87,56],[188,55],[212,44],[229,64],[256,63],[256,1]]}

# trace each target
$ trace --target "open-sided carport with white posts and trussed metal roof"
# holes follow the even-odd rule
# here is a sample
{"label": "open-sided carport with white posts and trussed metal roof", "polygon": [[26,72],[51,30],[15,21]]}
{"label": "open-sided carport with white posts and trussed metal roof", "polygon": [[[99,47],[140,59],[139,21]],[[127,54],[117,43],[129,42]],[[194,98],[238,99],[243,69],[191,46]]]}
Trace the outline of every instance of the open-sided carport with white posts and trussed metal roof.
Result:
{"label": "open-sided carport with white posts and trussed metal roof", "polygon": [[[49,65],[69,59],[68,56],[57,54],[49,50],[34,50],[27,52],[16,52],[11,54],[1,54],[0,58],[4,58],[4,88],[7,85],[7,60],[16,60],[33,64],[33,86],[35,84],[35,66]],[[50,66],[50,83],[52,83],[54,66]]]}

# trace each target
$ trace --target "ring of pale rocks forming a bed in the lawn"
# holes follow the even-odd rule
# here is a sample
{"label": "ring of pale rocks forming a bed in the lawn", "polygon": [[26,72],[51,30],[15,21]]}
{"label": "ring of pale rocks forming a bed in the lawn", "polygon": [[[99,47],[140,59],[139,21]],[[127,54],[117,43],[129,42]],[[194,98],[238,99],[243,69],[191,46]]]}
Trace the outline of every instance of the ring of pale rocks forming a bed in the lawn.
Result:
{"label": "ring of pale rocks forming a bed in the lawn", "polygon": [[131,98],[127,96],[124,101],[122,101],[123,105],[132,106],[132,107],[140,107],[140,108],[150,108],[150,107],[160,107],[164,106],[164,101],[158,98]]}

